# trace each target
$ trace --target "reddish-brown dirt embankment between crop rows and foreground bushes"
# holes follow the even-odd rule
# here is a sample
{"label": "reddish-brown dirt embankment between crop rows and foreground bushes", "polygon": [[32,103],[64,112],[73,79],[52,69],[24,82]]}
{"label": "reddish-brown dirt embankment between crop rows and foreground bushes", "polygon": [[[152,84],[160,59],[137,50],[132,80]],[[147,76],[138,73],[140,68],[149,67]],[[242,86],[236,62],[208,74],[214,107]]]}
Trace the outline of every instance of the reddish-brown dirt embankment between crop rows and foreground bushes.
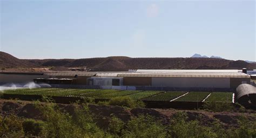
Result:
{"label": "reddish-brown dirt embankment between crop rows and foreground bushes", "polygon": [[[73,114],[75,108],[80,105],[58,104],[61,111]],[[185,112],[187,121],[199,120],[201,125],[211,125],[214,121],[219,121],[224,127],[238,127],[238,119],[241,116],[247,117],[250,121],[256,121],[255,113],[231,113],[231,112],[206,112],[190,110],[173,110],[173,109],[151,109],[151,108],[133,108],[127,109],[120,106],[94,105],[89,104],[89,111],[95,115],[96,123],[99,127],[106,128],[109,125],[111,117],[117,117],[123,121],[129,121],[132,117],[138,115],[151,115],[160,120],[164,125],[169,124],[170,119],[177,112]],[[42,119],[42,113],[30,101],[0,100],[1,114],[17,114],[18,117]]]}

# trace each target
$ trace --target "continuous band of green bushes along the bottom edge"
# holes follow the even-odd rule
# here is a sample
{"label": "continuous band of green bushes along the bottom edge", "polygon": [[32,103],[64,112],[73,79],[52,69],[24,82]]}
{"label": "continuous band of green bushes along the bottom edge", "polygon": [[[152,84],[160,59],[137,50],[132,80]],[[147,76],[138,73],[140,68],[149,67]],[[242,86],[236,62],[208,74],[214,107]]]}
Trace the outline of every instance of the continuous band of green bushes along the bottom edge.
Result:
{"label": "continuous band of green bushes along the bottom edge", "polygon": [[60,111],[54,103],[35,104],[43,114],[43,121],[21,119],[16,115],[1,117],[1,136],[7,137],[255,137],[256,122],[245,117],[239,119],[238,128],[226,128],[218,120],[212,125],[201,125],[198,120],[187,120],[185,112],[173,115],[169,124],[149,115],[139,115],[127,122],[117,117],[100,129],[86,105],[77,106],[72,115]]}

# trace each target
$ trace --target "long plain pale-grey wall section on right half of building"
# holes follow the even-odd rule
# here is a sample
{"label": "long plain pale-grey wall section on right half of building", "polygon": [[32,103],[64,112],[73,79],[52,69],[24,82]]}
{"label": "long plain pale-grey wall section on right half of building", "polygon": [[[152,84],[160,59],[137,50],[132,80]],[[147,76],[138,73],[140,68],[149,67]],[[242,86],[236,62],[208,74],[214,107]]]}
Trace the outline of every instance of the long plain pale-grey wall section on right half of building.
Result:
{"label": "long plain pale-grey wall section on right half of building", "polygon": [[152,86],[169,86],[174,88],[230,88],[230,78],[152,77]]}

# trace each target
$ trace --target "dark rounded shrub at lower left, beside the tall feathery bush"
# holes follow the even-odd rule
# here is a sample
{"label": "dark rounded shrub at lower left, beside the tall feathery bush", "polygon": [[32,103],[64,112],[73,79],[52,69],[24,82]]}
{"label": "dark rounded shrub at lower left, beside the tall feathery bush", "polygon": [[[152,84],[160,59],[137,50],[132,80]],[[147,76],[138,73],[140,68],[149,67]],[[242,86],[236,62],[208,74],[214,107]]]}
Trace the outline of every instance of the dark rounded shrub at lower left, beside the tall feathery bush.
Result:
{"label": "dark rounded shrub at lower left, beside the tall feathery bush", "polygon": [[27,119],[22,123],[25,135],[38,136],[44,129],[43,121]]}

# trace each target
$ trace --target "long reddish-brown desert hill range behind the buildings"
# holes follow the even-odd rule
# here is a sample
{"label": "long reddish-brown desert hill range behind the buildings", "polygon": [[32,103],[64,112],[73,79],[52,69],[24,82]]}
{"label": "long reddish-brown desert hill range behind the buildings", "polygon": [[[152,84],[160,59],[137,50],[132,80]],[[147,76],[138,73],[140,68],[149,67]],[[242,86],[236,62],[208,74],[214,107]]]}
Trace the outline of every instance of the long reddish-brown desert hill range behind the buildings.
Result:
{"label": "long reddish-brown desert hill range behind the buildings", "polygon": [[253,69],[256,64],[214,58],[131,58],[111,56],[89,59],[25,60],[0,52],[2,68],[87,67],[89,69]]}

